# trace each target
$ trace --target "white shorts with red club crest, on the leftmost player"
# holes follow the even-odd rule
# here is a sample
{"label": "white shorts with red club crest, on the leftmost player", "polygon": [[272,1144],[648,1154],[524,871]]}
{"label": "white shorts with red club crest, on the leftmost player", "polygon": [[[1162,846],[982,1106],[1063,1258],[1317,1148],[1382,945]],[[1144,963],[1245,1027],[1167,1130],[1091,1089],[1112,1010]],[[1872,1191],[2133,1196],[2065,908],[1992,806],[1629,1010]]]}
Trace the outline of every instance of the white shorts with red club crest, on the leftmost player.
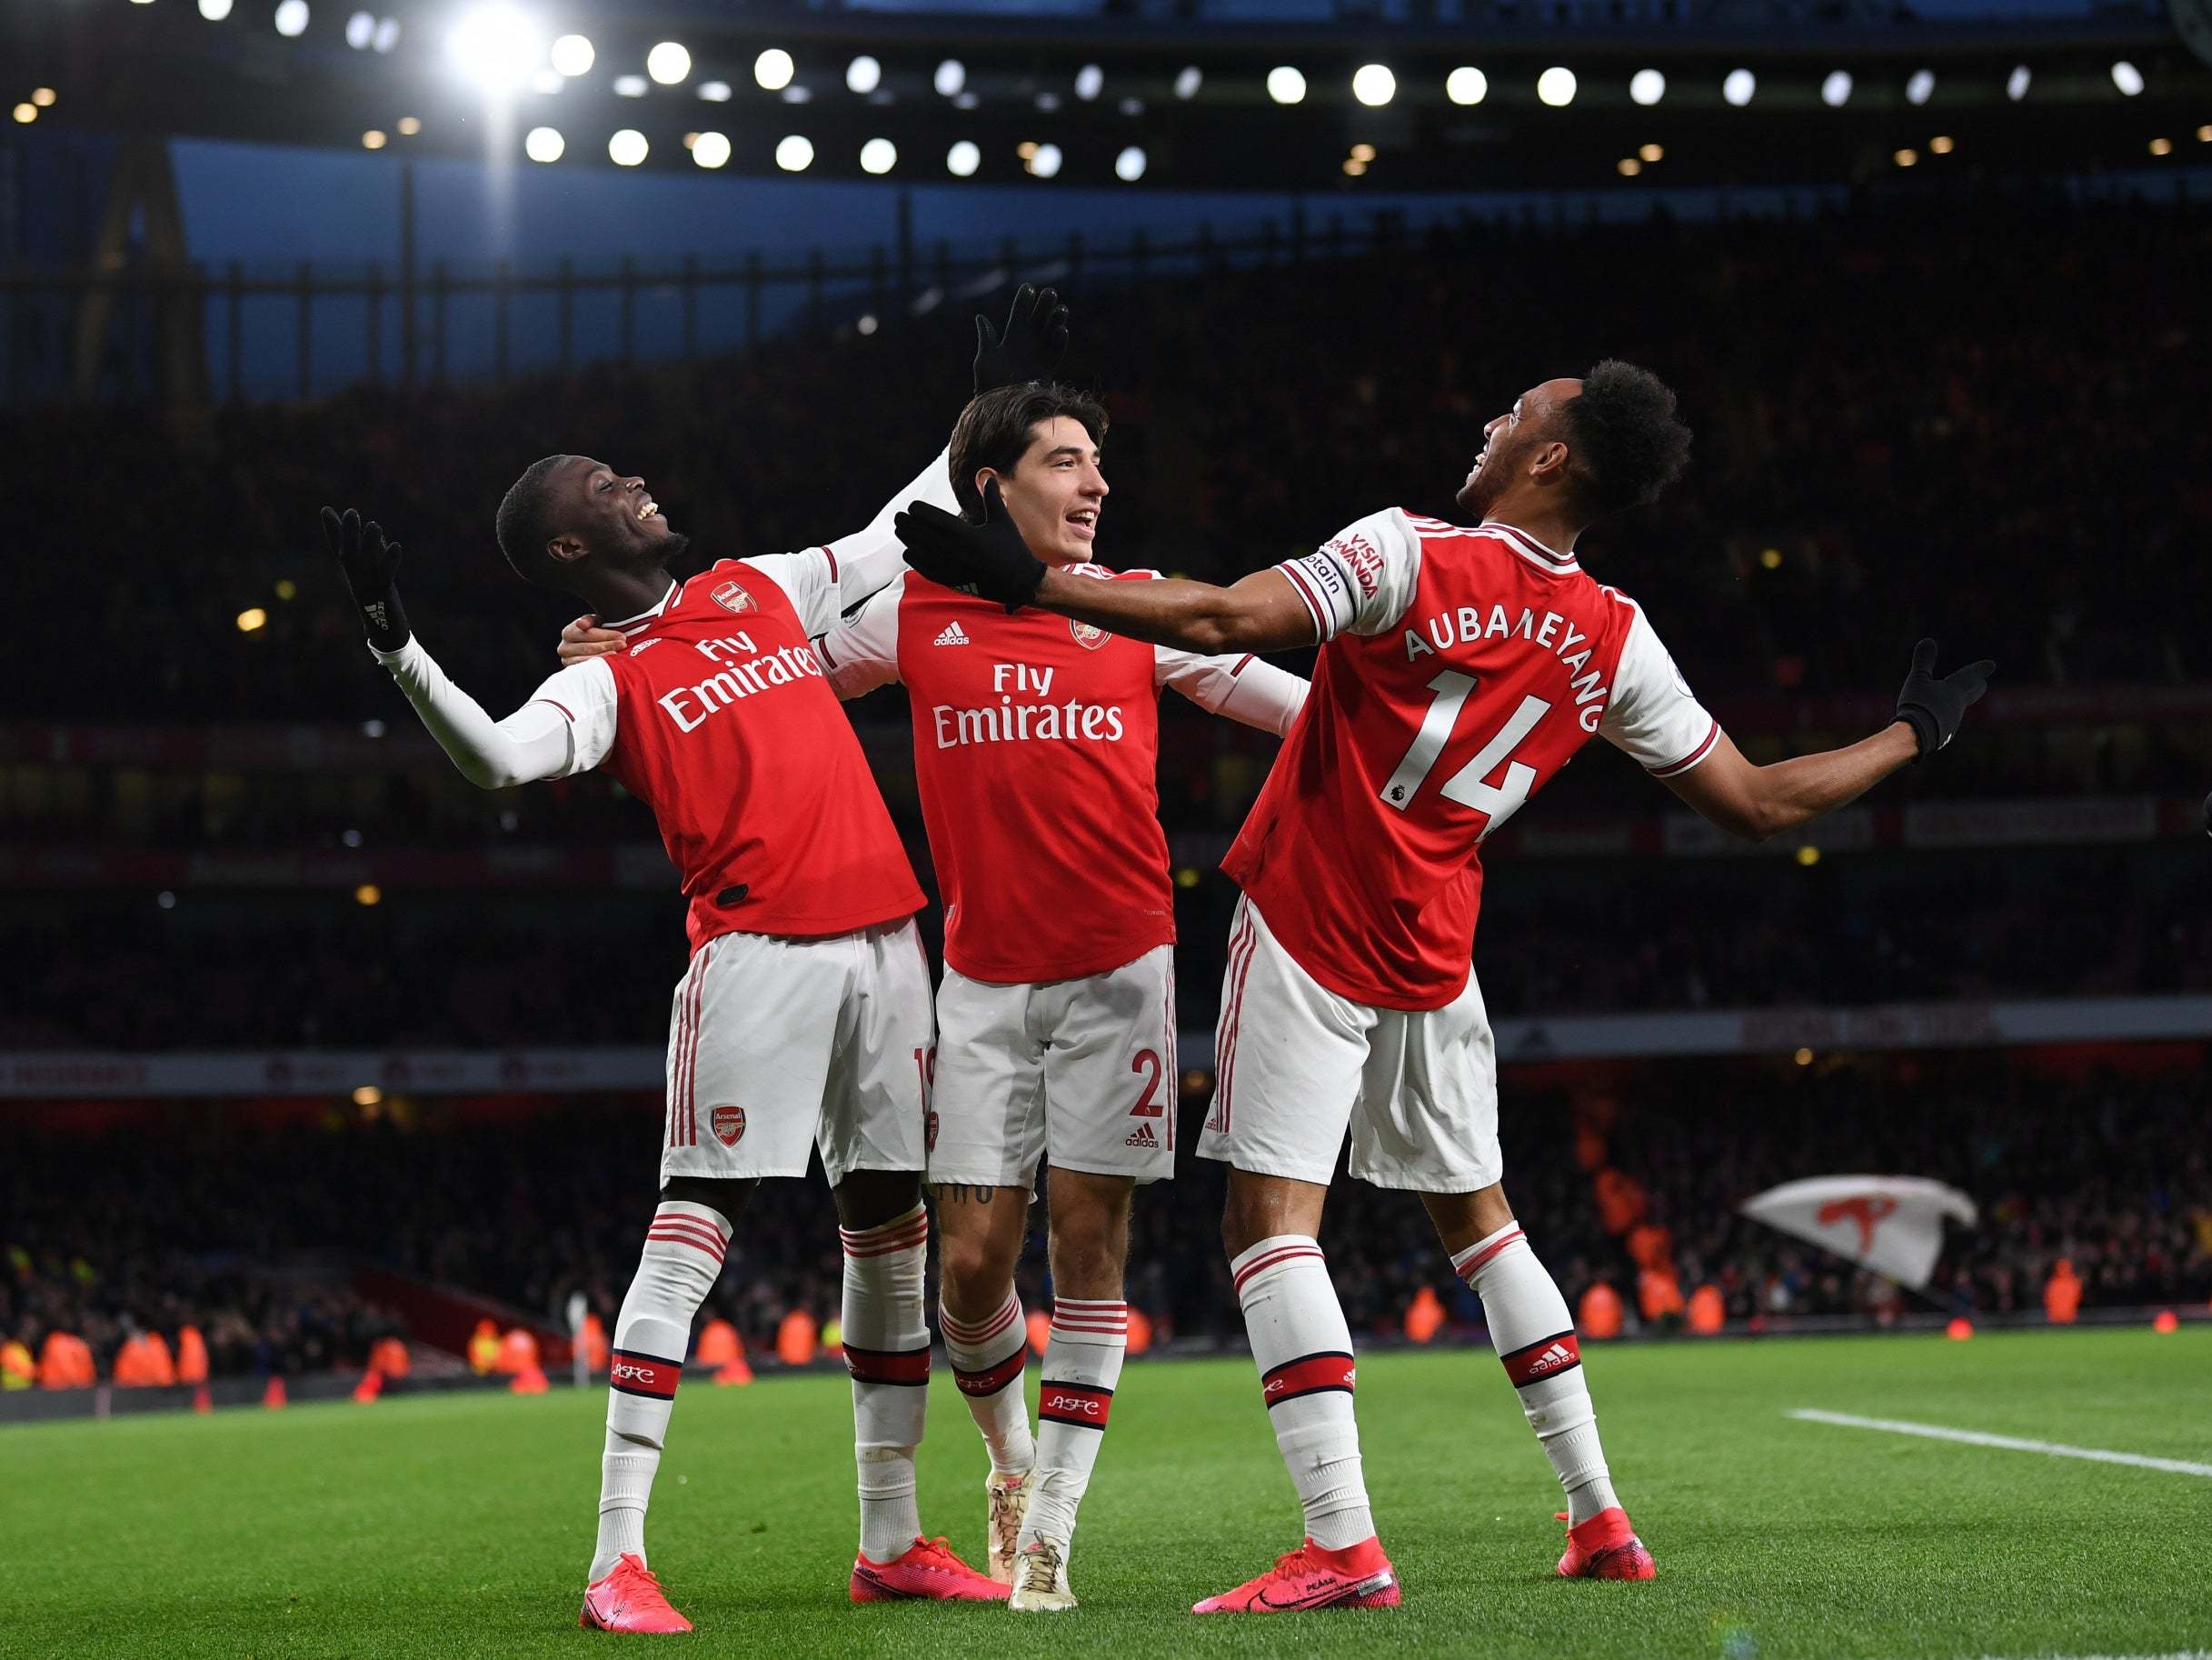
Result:
{"label": "white shorts with red club crest, on the leftmost player", "polygon": [[672,1175],[830,1182],[922,1169],[929,963],[914,921],[827,938],[719,934],[677,983],[668,1029]]}

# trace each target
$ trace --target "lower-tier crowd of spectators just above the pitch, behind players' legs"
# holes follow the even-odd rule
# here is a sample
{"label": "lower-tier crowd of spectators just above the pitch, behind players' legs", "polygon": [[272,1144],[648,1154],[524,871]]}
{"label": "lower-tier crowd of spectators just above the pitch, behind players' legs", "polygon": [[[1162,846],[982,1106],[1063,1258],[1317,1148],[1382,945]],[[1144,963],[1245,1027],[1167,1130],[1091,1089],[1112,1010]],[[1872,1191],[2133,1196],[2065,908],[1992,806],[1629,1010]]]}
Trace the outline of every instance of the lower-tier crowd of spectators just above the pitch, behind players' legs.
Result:
{"label": "lower-tier crowd of spectators just above the pitch, behind players' legs", "polygon": [[[1181,1109],[1194,1131],[1203,1091]],[[217,1372],[358,1366],[394,1326],[334,1266],[356,1259],[555,1330],[582,1290],[611,1326],[650,1217],[655,1131],[650,1102],[630,1100],[447,1127],[201,1127],[102,1138],[97,1158],[82,1135],[24,1135],[0,1177],[0,1335],[35,1346],[75,1330],[106,1361],[131,1330],[190,1319]],[[1679,1295],[1712,1286],[1730,1319],[1767,1330],[1907,1308],[2035,1313],[2059,1259],[2090,1310],[2212,1297],[2212,1151],[2185,1071],[2062,1080],[1995,1056],[1929,1056],[1787,1073],[1674,1062],[1632,1082],[1535,1087],[1509,1073],[1502,1133],[1506,1191],[1562,1290],[1579,1304],[1613,1286],[1630,1326],[1668,1328],[1679,1313],[1635,1313],[1655,1259]],[[1756,1191],[1829,1173],[1936,1177],[1969,1193],[1980,1222],[1953,1228],[1918,1297],[1736,1215]],[[1241,1330],[1221,1180],[1186,1155],[1172,1184],[1137,1200],[1128,1295],[1161,1339]],[[1599,1202],[1604,1182],[1637,1195],[1632,1213]],[[1022,1268],[1031,1308],[1051,1290],[1042,1231],[1040,1200]],[[1323,1244],[1356,1332],[1398,1332],[1422,1290],[1453,1326],[1480,1324],[1411,1195],[1338,1180]],[[701,1321],[730,1319],[765,1352],[787,1313],[832,1319],[838,1286],[821,1182],[765,1182]]]}

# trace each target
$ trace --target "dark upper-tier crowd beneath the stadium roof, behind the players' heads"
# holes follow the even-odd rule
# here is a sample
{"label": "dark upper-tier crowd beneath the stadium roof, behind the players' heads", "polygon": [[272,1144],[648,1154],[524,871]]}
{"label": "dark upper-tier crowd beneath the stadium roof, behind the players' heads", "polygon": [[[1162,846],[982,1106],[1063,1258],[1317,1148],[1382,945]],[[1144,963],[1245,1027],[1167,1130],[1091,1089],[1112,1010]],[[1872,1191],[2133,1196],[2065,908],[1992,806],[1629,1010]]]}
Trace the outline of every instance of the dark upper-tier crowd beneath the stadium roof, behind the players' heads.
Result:
{"label": "dark upper-tier crowd beneath the stadium roof, behind the players' heads", "polygon": [[[2212,677],[2212,219],[2179,204],[1982,193],[1823,219],[1438,228],[1402,248],[1146,283],[1071,279],[1066,374],[1115,429],[1102,547],[1223,578],[1385,502],[1451,513],[1482,423],[1617,354],[1681,394],[1690,476],[1593,531],[1708,695],[1887,691],[1918,633],[2008,684]],[[1993,325],[2002,319],[2002,325]],[[491,516],[535,456],[641,471],[697,556],[858,527],[945,440],[967,319],[940,308],[757,356],[507,387],[358,390],[0,427],[24,631],[15,713],[358,719],[387,708],[316,509],[407,544],[425,640],[520,697],[566,620]],[[1776,562],[1767,564],[1767,551]],[[290,602],[276,584],[296,584]],[[234,615],[272,620],[241,635]],[[84,655],[102,637],[108,651]]]}

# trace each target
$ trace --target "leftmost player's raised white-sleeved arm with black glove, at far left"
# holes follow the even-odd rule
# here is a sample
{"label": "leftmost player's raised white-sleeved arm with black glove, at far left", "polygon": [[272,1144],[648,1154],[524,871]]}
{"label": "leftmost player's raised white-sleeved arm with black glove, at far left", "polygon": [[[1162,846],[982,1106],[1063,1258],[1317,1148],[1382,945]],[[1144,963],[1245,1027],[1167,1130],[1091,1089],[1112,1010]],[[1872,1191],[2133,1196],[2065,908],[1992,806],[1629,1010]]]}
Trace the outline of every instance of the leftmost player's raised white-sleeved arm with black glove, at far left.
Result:
{"label": "leftmost player's raised white-sleeved arm with black glove, at far left", "polygon": [[[573,735],[560,704],[531,699],[504,722],[493,722],[414,637],[398,602],[398,542],[385,540],[383,529],[374,520],[363,522],[354,509],[338,513],[330,507],[323,509],[323,536],[330,538],[330,551],[354,595],[369,649],[392,671],[392,679],[462,777],[500,790],[531,779],[557,779],[571,770]],[[604,675],[606,668],[564,673]]]}

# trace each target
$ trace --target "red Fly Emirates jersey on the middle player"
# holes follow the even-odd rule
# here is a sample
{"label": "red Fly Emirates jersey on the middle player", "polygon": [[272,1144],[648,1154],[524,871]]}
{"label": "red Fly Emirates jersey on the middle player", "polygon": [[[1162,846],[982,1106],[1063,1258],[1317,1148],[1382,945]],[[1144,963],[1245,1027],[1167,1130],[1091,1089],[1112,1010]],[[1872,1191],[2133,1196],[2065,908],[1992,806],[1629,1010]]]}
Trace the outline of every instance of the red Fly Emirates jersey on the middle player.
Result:
{"label": "red Fly Emirates jersey on the middle player", "polygon": [[[1071,567],[1106,582],[1150,580]],[[1159,688],[1283,733],[1305,682],[1002,604],[907,571],[816,642],[841,697],[905,682],[945,961],[971,981],[1071,981],[1175,938],[1159,828]]]}

